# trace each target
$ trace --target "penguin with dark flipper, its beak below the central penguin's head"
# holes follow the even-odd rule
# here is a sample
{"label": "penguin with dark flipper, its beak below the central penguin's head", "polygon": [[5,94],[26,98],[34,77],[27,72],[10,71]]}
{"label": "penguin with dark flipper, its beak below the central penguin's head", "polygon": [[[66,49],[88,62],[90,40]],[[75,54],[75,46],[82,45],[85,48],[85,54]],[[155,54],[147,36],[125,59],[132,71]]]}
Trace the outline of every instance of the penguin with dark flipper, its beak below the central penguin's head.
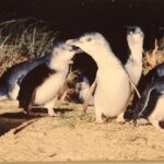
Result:
{"label": "penguin with dark flipper, its beak below the central penguin's head", "polygon": [[33,106],[44,106],[49,116],[58,116],[52,107],[65,87],[71,58],[78,52],[81,52],[79,48],[65,43],[57,44],[50,59],[30,71],[23,79],[17,96],[20,107],[28,115],[34,115],[31,110]]}

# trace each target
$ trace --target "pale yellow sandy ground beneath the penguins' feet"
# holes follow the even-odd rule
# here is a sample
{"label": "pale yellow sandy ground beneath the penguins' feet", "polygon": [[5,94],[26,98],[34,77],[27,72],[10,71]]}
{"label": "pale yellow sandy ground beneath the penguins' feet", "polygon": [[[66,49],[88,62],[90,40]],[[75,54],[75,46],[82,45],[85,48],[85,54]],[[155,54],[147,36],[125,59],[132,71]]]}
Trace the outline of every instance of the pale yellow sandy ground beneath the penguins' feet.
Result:
{"label": "pale yellow sandy ground beneath the penguins' feet", "polygon": [[86,115],[80,104],[57,108],[60,117],[30,118],[0,102],[0,162],[164,160],[164,132],[151,125],[97,125],[93,107]]}

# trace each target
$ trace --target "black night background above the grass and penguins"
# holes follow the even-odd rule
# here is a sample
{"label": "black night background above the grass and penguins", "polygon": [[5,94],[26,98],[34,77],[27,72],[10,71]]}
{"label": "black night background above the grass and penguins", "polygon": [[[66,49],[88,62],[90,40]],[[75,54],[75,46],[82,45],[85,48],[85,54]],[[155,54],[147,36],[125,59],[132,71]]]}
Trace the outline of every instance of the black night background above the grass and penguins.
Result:
{"label": "black night background above the grass and penguins", "polygon": [[40,19],[59,30],[61,38],[98,31],[122,62],[128,56],[126,26],[141,26],[145,34],[144,49],[151,49],[154,38],[164,34],[163,15],[164,0],[0,0],[0,21]]}

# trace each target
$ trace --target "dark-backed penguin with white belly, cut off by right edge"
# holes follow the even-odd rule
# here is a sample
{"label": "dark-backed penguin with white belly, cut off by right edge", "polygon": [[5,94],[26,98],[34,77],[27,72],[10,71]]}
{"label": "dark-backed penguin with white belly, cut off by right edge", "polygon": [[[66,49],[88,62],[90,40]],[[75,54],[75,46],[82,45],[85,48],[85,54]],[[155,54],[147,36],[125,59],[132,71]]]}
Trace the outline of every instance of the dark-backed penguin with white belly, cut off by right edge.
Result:
{"label": "dark-backed penguin with white belly, cut off by right edge", "polygon": [[155,67],[145,77],[147,86],[134,107],[133,119],[148,119],[155,128],[163,129],[164,122],[164,63]]}

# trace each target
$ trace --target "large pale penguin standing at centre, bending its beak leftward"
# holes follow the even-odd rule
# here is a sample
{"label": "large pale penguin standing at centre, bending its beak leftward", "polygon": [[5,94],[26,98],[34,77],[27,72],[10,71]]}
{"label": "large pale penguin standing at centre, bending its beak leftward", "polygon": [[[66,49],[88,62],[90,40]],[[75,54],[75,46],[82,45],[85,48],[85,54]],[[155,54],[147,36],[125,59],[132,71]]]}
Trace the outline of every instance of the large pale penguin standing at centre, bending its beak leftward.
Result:
{"label": "large pale penguin standing at centre, bending its beak leftward", "polygon": [[101,33],[94,32],[86,33],[77,39],[69,39],[67,44],[81,48],[97,65],[94,93],[96,122],[104,122],[103,116],[106,120],[117,116],[117,121],[122,121],[131,85],[136,86],[108,42]]}

